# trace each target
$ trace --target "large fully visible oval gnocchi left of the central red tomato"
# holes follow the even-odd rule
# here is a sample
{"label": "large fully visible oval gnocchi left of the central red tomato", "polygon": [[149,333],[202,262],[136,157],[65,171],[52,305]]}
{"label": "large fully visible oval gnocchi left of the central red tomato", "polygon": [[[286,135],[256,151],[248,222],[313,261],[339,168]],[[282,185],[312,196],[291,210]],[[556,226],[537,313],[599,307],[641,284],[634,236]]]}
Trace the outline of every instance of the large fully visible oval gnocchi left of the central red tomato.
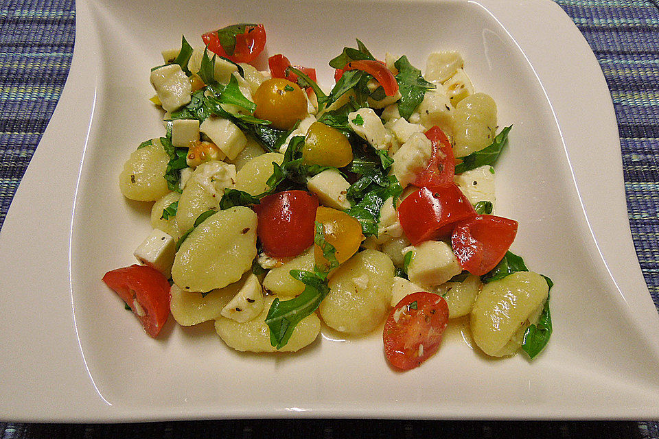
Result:
{"label": "large fully visible oval gnocchi left of the central red tomato", "polygon": [[178,249],[174,283],[189,291],[208,292],[238,281],[256,256],[256,223],[256,213],[244,206],[206,219]]}

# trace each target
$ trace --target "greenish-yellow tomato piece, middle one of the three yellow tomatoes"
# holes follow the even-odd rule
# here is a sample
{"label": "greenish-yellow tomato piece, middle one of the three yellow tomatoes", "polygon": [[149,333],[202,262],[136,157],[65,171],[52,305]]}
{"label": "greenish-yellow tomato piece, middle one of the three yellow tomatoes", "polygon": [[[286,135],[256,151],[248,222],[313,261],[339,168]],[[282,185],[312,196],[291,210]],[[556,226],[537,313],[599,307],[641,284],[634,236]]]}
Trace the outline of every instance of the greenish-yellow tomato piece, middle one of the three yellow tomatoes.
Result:
{"label": "greenish-yellow tomato piece, middle one of the three yellow tomatoes", "polygon": [[308,165],[344,167],[352,161],[352,147],[343,132],[314,122],[304,139],[302,161]]}

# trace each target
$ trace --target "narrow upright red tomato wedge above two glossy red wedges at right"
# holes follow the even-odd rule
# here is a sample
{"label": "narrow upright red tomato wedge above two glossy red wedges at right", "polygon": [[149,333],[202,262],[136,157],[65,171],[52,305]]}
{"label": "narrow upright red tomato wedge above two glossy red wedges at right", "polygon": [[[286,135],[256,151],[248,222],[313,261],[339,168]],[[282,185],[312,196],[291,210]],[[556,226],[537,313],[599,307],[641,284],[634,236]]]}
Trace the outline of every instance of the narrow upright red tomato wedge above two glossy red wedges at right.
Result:
{"label": "narrow upright red tomato wedge above two glossy red wedges at right", "polygon": [[447,185],[453,181],[455,176],[455,159],[451,143],[438,126],[426,131],[426,137],[432,142],[430,163],[417,175],[412,184],[417,187],[430,188]]}

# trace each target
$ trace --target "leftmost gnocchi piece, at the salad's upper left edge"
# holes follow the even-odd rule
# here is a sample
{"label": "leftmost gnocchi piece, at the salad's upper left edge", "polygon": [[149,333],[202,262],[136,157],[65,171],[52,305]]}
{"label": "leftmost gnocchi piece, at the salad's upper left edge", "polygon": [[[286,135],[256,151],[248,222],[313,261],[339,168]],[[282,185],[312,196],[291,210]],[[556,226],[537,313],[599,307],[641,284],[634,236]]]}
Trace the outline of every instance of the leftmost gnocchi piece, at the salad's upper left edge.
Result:
{"label": "leftmost gnocchi piece, at the salad's upper left edge", "polygon": [[133,151],[119,174],[119,189],[124,197],[137,201],[155,201],[170,191],[165,170],[170,156],[159,141]]}

